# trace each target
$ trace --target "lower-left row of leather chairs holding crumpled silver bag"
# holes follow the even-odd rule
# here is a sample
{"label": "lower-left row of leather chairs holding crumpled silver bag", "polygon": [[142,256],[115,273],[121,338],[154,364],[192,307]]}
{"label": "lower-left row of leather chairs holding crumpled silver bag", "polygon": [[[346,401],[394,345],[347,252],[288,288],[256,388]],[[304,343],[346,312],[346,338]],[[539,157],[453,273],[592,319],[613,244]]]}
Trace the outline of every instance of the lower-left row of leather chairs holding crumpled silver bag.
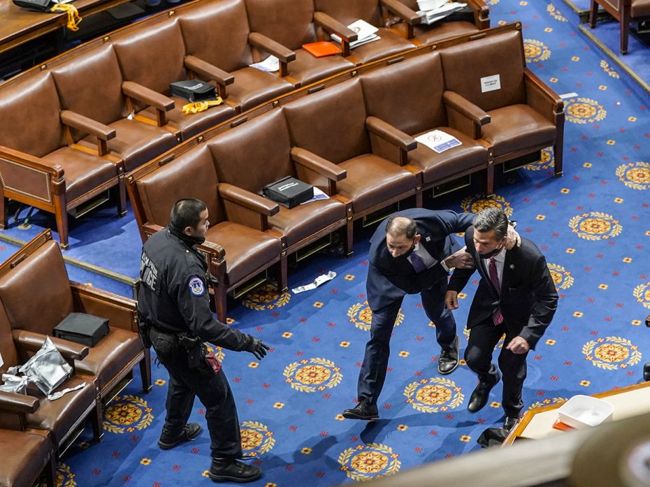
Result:
{"label": "lower-left row of leather chairs holding crumpled silver bag", "polygon": [[[70,312],[109,319],[108,335],[94,347],[52,337],[74,373],[57,389],[83,385],[49,400],[33,384],[27,395],[0,392],[0,486],[29,487],[43,472],[55,486],[55,462],[84,423],[103,435],[102,412],[140,365],[143,390],[151,389],[150,351],[136,333],[136,303],[71,282],[57,242],[44,231],[0,266],[0,373],[33,355]],[[10,446],[9,446],[10,445]],[[6,446],[6,447],[5,447]]]}

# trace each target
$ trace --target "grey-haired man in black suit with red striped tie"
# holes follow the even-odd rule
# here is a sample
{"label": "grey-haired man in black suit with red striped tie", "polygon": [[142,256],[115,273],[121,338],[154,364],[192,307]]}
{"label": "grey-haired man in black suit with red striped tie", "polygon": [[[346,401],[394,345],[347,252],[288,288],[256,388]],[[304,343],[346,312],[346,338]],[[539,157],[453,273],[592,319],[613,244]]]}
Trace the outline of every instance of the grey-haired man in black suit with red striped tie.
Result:
{"label": "grey-haired man in black suit with red striped tie", "polygon": [[[468,315],[470,340],[465,361],[479,376],[468,405],[470,412],[477,412],[486,405],[491,388],[500,379],[491,363],[492,351],[505,333],[498,362],[503,373],[503,427],[509,430],[523,407],[526,355],[551,323],[558,293],[546,259],[533,242],[522,238],[521,247],[505,248],[507,226],[502,210],[487,208],[476,215],[473,226],[465,232],[467,252],[481,275]],[[473,272],[466,268],[454,271],[445,296],[449,310],[458,308],[458,293]]]}

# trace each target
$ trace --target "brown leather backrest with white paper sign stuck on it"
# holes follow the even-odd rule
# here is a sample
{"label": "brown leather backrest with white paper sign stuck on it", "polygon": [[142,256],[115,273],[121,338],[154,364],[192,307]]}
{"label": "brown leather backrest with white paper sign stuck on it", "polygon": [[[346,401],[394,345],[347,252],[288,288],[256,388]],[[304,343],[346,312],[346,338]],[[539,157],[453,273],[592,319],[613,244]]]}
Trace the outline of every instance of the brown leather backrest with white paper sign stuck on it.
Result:
{"label": "brown leather backrest with white paper sign stuck on it", "polygon": [[[523,67],[526,62],[519,31],[489,36],[440,51],[445,87],[486,112],[526,103]],[[468,69],[468,63],[471,68]],[[482,91],[482,78],[498,75],[500,89]]]}

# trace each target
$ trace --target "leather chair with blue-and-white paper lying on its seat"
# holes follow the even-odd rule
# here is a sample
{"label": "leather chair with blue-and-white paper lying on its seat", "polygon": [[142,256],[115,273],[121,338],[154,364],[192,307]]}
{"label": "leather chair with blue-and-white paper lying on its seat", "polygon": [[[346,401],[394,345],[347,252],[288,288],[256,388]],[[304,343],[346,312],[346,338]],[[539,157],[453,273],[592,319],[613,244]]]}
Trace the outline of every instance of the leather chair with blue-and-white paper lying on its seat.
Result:
{"label": "leather chair with blue-and-white paper lying on its seat", "polygon": [[[434,187],[435,194],[436,185],[487,168],[488,151],[475,140],[486,120],[476,117],[470,107],[445,99],[445,78],[438,52],[370,71],[361,76],[361,86],[369,116],[412,137],[438,129],[461,141],[461,145],[440,154],[421,143],[408,153],[410,166],[422,171],[423,190]],[[475,130],[476,126],[479,130]],[[375,152],[385,153],[384,157],[398,162],[394,145],[381,138],[375,138],[375,143]]]}

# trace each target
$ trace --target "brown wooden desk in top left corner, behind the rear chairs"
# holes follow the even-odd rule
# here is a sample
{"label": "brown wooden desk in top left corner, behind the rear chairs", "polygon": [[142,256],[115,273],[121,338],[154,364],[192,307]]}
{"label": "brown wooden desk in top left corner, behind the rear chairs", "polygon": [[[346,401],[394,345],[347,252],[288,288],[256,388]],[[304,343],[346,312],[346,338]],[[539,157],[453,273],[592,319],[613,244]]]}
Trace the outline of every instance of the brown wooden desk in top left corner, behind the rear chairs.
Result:
{"label": "brown wooden desk in top left corner, behind the rear chairs", "polygon": [[[98,13],[131,0],[75,0],[82,17]],[[24,10],[11,0],[0,0],[0,54],[58,29],[65,29],[65,13]]]}

